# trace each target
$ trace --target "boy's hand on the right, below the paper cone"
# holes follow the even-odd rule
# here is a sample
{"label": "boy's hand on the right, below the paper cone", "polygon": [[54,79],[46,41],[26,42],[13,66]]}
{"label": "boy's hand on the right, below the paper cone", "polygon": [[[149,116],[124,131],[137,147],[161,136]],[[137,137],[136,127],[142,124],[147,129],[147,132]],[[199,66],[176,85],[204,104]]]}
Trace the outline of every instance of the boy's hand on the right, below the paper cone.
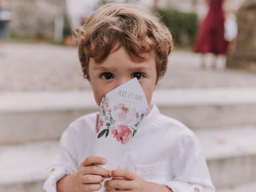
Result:
{"label": "boy's hand on the right, below the paper cone", "polygon": [[[116,190],[129,190],[130,192],[148,192],[149,182],[140,178],[129,170],[112,170],[112,180],[105,181],[105,187],[115,188]],[[106,189],[105,192],[115,192]]]}

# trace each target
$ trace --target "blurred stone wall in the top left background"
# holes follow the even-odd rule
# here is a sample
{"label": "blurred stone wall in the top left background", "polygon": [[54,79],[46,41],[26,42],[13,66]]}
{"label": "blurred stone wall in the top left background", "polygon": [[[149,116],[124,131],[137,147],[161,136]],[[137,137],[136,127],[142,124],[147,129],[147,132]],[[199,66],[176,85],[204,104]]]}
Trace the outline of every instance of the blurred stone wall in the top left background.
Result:
{"label": "blurred stone wall in the top left background", "polygon": [[10,36],[53,39],[54,18],[66,13],[65,0],[7,0]]}

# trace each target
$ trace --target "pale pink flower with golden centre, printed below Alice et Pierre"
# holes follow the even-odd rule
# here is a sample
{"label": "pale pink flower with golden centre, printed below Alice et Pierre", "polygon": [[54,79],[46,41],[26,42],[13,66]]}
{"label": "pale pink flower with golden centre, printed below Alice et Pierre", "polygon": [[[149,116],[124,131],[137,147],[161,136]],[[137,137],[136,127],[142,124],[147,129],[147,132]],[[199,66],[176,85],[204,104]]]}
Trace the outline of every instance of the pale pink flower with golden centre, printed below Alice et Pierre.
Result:
{"label": "pale pink flower with golden centre, printed below Alice et Pierre", "polygon": [[125,122],[126,124],[135,124],[136,122],[136,109],[119,103],[115,105],[112,110],[112,117],[114,120]]}

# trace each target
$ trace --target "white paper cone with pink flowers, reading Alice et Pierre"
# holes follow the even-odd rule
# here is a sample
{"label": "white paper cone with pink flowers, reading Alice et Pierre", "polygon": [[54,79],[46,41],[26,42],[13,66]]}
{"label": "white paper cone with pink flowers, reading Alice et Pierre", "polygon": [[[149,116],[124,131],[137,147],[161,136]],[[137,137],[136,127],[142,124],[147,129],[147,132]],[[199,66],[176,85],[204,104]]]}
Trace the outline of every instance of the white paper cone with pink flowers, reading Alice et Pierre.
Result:
{"label": "white paper cone with pink flowers, reading Alice et Pierre", "polygon": [[107,162],[99,166],[108,170],[118,168],[147,110],[148,102],[137,78],[118,86],[102,98],[93,154],[106,158]]}

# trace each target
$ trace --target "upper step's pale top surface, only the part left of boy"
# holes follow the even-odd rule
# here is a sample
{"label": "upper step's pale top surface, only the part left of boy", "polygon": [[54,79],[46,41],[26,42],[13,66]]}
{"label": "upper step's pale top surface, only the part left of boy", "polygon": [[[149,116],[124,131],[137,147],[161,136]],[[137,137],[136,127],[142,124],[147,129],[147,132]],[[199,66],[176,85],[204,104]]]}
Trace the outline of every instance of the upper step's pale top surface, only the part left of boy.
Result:
{"label": "upper step's pale top surface, only the part left of boy", "polygon": [[96,109],[92,92],[0,93],[0,113]]}

